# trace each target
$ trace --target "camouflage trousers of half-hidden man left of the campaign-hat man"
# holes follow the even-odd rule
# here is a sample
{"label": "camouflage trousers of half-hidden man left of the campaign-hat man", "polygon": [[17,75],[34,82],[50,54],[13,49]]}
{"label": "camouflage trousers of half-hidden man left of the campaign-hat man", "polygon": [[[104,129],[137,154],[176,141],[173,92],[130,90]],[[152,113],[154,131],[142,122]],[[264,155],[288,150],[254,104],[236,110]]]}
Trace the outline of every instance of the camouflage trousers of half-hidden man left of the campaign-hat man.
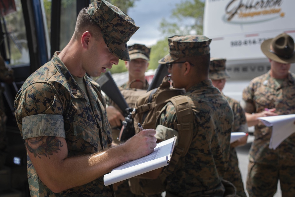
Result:
{"label": "camouflage trousers of half-hidden man left of the campaign-hat man", "polygon": [[235,185],[238,196],[247,197],[244,190],[242,175],[239,169],[237,152],[235,148],[232,148],[232,147],[230,148],[230,157],[229,157],[228,165],[229,165],[228,171],[224,174],[223,179],[228,180],[233,185]]}

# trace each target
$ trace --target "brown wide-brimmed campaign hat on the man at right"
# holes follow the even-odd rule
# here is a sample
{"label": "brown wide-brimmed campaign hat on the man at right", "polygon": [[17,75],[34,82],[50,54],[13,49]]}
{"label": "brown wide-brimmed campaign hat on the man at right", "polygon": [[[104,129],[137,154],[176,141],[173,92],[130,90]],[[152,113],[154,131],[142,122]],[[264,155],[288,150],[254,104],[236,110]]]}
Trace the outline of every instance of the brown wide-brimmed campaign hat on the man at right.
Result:
{"label": "brown wide-brimmed campaign hat on the man at right", "polygon": [[268,58],[278,63],[290,64],[295,62],[294,40],[286,33],[265,40],[261,44],[261,51]]}

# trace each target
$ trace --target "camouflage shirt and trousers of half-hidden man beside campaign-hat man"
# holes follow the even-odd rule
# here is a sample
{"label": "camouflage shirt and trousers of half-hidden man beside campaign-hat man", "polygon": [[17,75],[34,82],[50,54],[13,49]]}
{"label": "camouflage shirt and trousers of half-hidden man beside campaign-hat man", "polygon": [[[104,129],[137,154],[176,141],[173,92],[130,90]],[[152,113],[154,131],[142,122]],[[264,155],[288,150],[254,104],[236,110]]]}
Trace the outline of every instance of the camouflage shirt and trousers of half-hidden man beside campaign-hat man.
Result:
{"label": "camouflage shirt and trousers of half-hidden man beside campaign-hat man", "polygon": [[[228,96],[225,96],[225,98],[227,99],[227,102],[232,108],[232,112],[234,113],[234,122],[232,126],[232,132],[245,132],[245,133],[248,132],[247,127],[245,127],[245,124],[247,124],[245,111],[241,107],[240,103],[237,100],[232,99]],[[246,130],[241,131],[241,127],[246,128]],[[244,191],[242,175],[239,169],[237,152],[236,152],[236,149],[233,147],[230,147],[230,156],[228,160],[229,160],[229,168],[228,168],[228,171],[225,172],[223,179],[228,180],[233,185],[235,185],[238,196],[247,197]]]}

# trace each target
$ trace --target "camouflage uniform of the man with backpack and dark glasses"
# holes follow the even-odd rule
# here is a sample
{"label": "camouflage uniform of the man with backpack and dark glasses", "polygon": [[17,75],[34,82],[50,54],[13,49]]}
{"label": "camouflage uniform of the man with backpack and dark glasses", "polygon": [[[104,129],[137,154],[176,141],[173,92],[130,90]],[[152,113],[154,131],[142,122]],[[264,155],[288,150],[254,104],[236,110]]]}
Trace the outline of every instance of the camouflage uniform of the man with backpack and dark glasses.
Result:
{"label": "camouflage uniform of the man with backpack and dark glasses", "polygon": [[[180,157],[174,172],[163,180],[166,192],[176,196],[223,197],[221,181],[228,170],[232,110],[211,80],[195,84],[185,95],[194,103],[193,139],[186,156]],[[175,121],[176,110],[168,102],[157,122],[176,129]]]}

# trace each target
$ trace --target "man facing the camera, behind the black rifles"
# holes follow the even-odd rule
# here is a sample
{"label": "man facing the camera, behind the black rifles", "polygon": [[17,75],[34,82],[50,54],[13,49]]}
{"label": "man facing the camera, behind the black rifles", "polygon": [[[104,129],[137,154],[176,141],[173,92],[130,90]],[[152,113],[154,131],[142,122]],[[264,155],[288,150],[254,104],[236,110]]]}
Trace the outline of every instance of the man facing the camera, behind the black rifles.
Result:
{"label": "man facing the camera, behind the black rifles", "polygon": [[[125,61],[129,78],[119,90],[125,98],[128,106],[133,108],[137,98],[144,94],[149,87],[148,81],[145,79],[145,71],[148,69],[150,48],[142,44],[134,44],[128,46],[130,61]],[[113,144],[119,144],[117,140],[122,127],[122,121],[125,119],[123,112],[118,105],[106,96],[107,104],[106,113],[112,127]],[[137,196],[130,191],[128,180],[114,184],[114,190],[117,197]]]}

